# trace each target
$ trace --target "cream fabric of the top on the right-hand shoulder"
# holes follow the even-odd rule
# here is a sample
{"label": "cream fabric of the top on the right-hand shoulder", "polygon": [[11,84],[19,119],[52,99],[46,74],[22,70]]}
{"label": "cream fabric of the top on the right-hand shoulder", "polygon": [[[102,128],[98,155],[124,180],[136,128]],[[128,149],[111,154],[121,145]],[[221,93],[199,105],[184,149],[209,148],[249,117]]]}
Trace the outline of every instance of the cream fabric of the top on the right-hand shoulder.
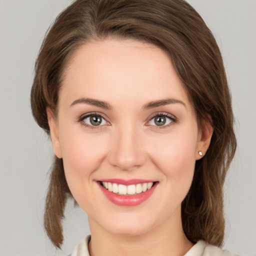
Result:
{"label": "cream fabric of the top on the right-hand shoulder", "polygon": [[235,253],[199,240],[184,256],[238,256]]}

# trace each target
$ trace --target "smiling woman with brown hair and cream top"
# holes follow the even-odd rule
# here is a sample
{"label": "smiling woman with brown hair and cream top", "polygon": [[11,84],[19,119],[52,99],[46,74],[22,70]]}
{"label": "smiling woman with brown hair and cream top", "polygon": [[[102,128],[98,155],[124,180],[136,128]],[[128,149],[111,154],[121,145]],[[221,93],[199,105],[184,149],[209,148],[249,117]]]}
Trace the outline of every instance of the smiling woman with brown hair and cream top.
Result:
{"label": "smiling woman with brown hair and cream top", "polygon": [[56,247],[71,196],[91,232],[71,255],[231,255],[217,247],[230,93],[187,2],[74,1],[43,41],[31,107],[56,155],[44,214]]}

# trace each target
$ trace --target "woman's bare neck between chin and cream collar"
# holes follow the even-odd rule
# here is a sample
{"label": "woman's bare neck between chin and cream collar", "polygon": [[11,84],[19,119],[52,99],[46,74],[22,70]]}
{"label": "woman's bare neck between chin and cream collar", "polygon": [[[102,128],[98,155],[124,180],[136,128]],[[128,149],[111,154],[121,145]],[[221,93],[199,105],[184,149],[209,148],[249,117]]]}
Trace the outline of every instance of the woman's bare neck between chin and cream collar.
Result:
{"label": "woman's bare neck between chin and cream collar", "polygon": [[167,219],[160,226],[140,235],[119,235],[108,232],[88,218],[91,241],[90,256],[181,256],[193,245],[185,236],[181,217]]}

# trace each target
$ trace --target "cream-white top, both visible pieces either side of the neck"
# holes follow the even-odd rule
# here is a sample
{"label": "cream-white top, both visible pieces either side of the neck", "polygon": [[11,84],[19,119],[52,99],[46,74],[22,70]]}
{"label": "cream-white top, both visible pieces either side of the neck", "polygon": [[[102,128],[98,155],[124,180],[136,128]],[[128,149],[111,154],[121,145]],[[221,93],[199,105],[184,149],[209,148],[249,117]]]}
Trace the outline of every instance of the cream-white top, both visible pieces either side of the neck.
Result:
{"label": "cream-white top, both visible pieces either side of the neck", "polygon": [[[70,256],[89,256],[88,243],[90,235],[84,237],[74,248]],[[207,244],[203,240],[199,240],[193,247],[186,252],[184,256],[238,256],[227,250]]]}

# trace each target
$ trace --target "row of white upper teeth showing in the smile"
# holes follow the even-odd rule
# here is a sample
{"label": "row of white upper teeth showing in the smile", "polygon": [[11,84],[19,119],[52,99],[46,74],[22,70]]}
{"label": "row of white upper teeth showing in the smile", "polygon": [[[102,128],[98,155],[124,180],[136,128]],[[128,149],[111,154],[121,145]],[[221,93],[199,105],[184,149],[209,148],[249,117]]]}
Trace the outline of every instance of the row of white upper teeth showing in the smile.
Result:
{"label": "row of white upper teeth showing in the smile", "polygon": [[102,182],[103,187],[108,191],[118,193],[118,194],[127,194],[132,195],[135,193],[145,192],[147,189],[150,189],[153,185],[153,182],[133,184],[133,185],[123,185],[116,184],[111,182]]}

